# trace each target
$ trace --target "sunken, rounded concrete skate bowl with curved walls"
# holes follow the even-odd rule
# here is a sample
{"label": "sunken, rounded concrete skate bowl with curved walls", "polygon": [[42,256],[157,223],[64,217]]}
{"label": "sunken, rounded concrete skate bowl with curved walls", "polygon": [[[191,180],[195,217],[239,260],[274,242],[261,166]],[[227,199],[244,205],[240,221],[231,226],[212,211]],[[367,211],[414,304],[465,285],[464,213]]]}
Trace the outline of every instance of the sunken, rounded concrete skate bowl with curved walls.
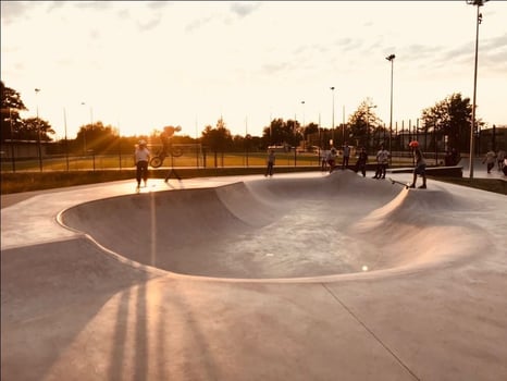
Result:
{"label": "sunken, rounded concrete skate bowl with curved walls", "polygon": [[312,279],[480,253],[486,234],[465,218],[473,208],[436,184],[405,189],[338,171],[100,199],[64,210],[59,221],[108,251],[172,273]]}

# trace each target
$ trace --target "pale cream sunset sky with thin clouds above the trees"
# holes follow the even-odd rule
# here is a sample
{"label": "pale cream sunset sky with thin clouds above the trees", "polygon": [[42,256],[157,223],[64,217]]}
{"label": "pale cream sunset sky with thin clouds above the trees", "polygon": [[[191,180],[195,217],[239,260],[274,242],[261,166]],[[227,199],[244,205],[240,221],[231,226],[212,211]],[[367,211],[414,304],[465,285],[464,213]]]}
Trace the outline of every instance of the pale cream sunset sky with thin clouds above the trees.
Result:
{"label": "pale cream sunset sky with thin clouds above the trees", "polygon": [[[506,125],[507,1],[480,12],[477,116]],[[394,128],[472,101],[475,21],[465,0],[1,1],[1,79],[57,139],[97,121],[124,136],[198,137],[220,118],[242,136],[275,118],[329,128],[367,99],[388,126],[392,79]]]}

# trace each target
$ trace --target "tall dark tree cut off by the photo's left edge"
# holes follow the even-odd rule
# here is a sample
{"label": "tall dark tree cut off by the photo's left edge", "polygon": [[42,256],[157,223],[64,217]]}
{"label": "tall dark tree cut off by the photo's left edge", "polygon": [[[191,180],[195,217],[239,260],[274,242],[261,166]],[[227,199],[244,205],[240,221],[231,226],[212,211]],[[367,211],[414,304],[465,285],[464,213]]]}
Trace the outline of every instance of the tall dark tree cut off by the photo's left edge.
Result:
{"label": "tall dark tree cut off by the photo's left edge", "polygon": [[20,111],[27,110],[21,96],[16,90],[1,84],[1,137],[2,142],[7,138],[13,139],[16,133],[22,130],[23,121],[20,118]]}

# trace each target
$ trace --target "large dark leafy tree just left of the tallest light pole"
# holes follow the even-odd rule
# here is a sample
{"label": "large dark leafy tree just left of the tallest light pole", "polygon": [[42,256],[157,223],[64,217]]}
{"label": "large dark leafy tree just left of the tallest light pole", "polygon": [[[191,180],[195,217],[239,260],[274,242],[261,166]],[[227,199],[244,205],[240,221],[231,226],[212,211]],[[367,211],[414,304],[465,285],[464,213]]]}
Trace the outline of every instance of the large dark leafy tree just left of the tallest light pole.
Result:
{"label": "large dark leafy tree just left of the tallest light pole", "polygon": [[[472,106],[470,98],[462,98],[455,93],[435,106],[422,110],[422,121],[426,132],[432,131],[437,140],[444,135],[448,146],[462,151],[470,147]],[[478,123],[482,125],[482,122]]]}

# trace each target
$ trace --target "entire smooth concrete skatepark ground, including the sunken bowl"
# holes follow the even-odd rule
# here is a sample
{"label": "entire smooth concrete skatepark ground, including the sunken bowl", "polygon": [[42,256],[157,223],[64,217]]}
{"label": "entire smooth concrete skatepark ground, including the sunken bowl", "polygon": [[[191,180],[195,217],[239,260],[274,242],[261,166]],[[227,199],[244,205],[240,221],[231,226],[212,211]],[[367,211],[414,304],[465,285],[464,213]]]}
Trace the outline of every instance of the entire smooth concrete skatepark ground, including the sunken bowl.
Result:
{"label": "entire smooth concrete skatepark ground, including the sunken bowl", "polygon": [[7,196],[2,380],[507,379],[504,195],[336,171]]}

